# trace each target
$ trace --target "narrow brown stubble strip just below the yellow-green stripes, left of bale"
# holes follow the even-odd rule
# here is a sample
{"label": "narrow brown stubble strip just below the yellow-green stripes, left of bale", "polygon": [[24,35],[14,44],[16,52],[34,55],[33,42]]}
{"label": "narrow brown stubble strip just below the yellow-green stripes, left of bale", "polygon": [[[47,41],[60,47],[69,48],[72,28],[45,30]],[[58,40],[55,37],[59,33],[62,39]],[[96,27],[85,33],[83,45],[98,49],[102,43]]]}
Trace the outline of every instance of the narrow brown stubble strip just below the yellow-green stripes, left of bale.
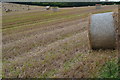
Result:
{"label": "narrow brown stubble strip just below the yellow-green stripes, left of bale", "polygon": [[[20,39],[24,39],[26,37],[30,37],[30,36],[34,36],[37,34],[42,34],[48,31],[53,31],[53,30],[57,30],[57,29],[61,29],[61,28],[65,28],[65,27],[70,27],[74,24],[79,24],[80,22],[84,22],[85,19],[81,19],[81,20],[75,20],[75,21],[69,21],[69,22],[65,22],[65,23],[58,23],[58,24],[54,24],[54,25],[50,25],[50,26],[42,26],[40,28],[37,29],[32,29],[32,30],[28,30],[25,32],[19,32],[16,34],[10,34],[10,35],[5,35],[3,36],[3,45],[20,40]],[[19,36],[19,37],[17,37]]]}

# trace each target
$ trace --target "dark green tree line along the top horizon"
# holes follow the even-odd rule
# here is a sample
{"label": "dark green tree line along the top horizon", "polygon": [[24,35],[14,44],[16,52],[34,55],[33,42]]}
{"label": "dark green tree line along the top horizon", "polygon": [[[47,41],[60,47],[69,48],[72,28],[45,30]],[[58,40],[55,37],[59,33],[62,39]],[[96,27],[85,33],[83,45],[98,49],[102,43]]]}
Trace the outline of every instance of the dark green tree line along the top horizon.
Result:
{"label": "dark green tree line along the top horizon", "polygon": [[118,2],[14,2],[14,3],[53,7],[80,7],[80,6],[95,6],[96,4],[102,5],[118,4]]}

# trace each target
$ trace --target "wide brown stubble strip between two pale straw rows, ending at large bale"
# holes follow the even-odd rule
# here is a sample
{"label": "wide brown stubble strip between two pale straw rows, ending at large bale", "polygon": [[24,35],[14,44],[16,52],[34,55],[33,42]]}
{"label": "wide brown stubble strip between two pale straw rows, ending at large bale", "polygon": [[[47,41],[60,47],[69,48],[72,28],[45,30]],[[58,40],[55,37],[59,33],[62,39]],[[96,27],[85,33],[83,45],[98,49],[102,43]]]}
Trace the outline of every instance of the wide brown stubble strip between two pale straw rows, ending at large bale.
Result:
{"label": "wide brown stubble strip between two pale straw rows, ending at large bale", "polygon": [[[70,25],[69,27],[63,27],[60,29],[47,32],[47,33],[33,35],[31,37],[27,37],[22,40],[17,40],[9,44],[3,45],[3,54],[4,54],[3,57],[13,58],[14,55],[16,56],[21,55],[23,54],[23,52],[25,51],[29,52],[30,50],[38,46],[42,47],[56,40],[64,39],[65,37],[69,35],[78,33],[81,30],[85,30],[88,25],[87,23],[88,22],[81,22],[81,23],[75,24],[76,26]],[[18,54],[16,54],[16,52]]]}

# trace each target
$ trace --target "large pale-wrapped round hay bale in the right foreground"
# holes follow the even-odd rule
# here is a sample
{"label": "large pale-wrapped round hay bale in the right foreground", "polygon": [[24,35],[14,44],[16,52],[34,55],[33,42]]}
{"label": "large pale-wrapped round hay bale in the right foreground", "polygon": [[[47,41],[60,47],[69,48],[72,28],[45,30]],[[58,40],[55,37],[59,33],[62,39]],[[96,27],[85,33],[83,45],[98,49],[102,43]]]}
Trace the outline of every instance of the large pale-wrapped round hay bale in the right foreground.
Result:
{"label": "large pale-wrapped round hay bale in the right foreground", "polygon": [[113,12],[93,14],[90,18],[89,41],[91,49],[115,49]]}

